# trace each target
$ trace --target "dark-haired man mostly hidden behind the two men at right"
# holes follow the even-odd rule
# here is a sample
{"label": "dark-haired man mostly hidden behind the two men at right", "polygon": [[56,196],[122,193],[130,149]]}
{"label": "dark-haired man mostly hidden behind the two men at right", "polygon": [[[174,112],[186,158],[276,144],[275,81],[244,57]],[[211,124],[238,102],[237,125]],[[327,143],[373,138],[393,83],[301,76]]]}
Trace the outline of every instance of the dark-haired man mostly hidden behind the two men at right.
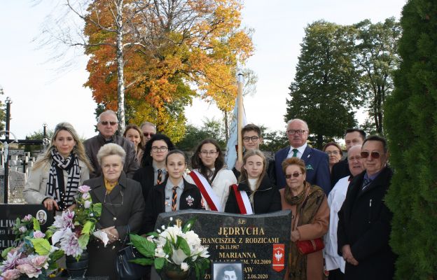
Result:
{"label": "dark-haired man mostly hidden behind the two men at right", "polygon": [[[366,139],[366,132],[357,128],[348,128],[345,134],[346,151],[349,152],[352,146],[363,145],[364,139]],[[331,189],[334,188],[338,180],[346,176],[351,176],[347,157],[333,166],[331,171]]]}

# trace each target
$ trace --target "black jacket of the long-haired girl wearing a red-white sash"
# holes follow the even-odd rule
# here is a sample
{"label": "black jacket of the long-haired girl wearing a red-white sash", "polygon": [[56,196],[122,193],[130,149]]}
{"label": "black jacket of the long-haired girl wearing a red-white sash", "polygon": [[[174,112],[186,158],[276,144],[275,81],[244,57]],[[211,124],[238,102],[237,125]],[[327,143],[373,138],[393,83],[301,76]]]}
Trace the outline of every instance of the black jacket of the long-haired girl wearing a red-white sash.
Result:
{"label": "black jacket of the long-haired girl wearing a red-white sash", "polygon": [[[238,207],[237,199],[232,188],[229,190],[228,200],[226,201],[225,212],[240,214],[240,207]],[[238,190],[244,190],[247,195],[250,195],[251,190],[247,183],[239,183]],[[263,181],[258,190],[254,194],[254,214],[264,214],[275,211],[281,211],[281,195],[279,190],[270,183],[268,176],[264,176]]]}

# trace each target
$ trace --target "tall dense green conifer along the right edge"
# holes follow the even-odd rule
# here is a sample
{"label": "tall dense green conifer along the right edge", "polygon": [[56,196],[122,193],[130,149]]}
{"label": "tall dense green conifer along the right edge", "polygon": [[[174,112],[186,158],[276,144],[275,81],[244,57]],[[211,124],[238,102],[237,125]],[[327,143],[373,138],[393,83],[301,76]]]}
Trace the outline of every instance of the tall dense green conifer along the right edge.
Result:
{"label": "tall dense green conifer along the right edge", "polygon": [[403,8],[401,66],[386,102],[394,177],[386,197],[396,279],[437,279],[437,1]]}

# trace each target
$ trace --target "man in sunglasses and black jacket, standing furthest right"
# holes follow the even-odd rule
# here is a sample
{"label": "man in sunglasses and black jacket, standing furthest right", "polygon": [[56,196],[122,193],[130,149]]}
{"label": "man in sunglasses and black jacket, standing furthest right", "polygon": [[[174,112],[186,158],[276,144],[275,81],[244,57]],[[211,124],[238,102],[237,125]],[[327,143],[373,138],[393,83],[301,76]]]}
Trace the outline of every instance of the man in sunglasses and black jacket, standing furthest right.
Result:
{"label": "man in sunglasses and black jacket, standing furthest right", "polygon": [[361,148],[366,169],[349,185],[338,212],[338,253],[346,261],[347,279],[393,279],[395,255],[389,246],[393,214],[384,203],[391,181],[387,143],[368,137]]}

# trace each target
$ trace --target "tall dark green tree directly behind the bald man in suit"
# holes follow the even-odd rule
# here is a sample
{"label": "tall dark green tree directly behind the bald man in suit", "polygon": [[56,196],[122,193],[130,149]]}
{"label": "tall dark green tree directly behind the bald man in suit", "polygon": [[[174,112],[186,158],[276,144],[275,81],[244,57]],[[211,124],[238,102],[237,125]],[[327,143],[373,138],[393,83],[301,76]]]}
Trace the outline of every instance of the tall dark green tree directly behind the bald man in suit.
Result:
{"label": "tall dark green tree directly behind the bald man in suit", "polygon": [[356,125],[354,109],[360,98],[354,38],[351,27],[324,20],[305,28],[284,120],[305,120],[317,148]]}

